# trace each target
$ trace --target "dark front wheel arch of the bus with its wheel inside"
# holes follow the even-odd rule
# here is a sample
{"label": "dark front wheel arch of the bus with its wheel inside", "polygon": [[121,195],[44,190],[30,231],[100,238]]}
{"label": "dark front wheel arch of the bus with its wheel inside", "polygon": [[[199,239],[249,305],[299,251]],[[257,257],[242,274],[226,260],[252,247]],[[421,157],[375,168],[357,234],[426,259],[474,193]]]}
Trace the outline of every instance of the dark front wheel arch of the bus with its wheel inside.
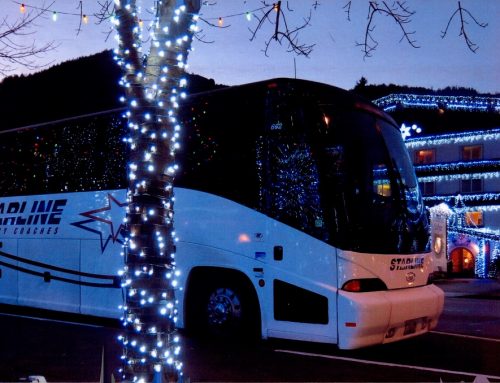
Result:
{"label": "dark front wheel arch of the bus with its wheel inside", "polygon": [[195,267],[186,283],[186,329],[196,335],[257,338],[261,311],[257,292],[241,271]]}

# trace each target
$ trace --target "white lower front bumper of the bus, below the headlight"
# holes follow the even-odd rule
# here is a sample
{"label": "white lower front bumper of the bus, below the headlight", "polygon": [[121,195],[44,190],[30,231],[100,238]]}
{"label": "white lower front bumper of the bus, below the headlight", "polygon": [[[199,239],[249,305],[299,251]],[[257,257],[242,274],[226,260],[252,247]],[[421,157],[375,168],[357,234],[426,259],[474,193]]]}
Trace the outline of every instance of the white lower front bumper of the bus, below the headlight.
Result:
{"label": "white lower front bumper of the bus, below the headlight", "polygon": [[338,291],[338,345],[355,349],[414,337],[436,327],[444,292],[435,285],[351,293]]}

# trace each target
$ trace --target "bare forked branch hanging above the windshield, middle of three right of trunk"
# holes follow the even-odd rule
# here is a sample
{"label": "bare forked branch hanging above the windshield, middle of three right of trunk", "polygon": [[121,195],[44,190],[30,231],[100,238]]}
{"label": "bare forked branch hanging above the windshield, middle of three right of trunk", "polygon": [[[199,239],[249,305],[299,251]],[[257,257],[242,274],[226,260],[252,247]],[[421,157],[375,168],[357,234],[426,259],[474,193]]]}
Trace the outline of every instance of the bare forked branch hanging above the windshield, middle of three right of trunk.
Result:
{"label": "bare forked branch hanging above the windshield, middle of three right of trunk", "polygon": [[[350,11],[350,2],[347,4]],[[347,6],[346,5],[346,6]],[[345,8],[345,7],[344,7]],[[406,40],[413,48],[419,48],[416,40],[413,39],[415,31],[408,31],[407,24],[411,22],[411,17],[415,14],[411,11],[403,1],[395,1],[392,5],[388,5],[386,1],[379,4],[377,1],[370,1],[368,6],[368,17],[365,29],[365,38],[362,43],[356,43],[361,47],[365,58],[371,57],[373,51],[377,49],[378,41],[375,39],[375,16],[381,14],[391,18],[396,25],[399,26],[402,32],[400,41]],[[348,13],[349,16],[349,13]]]}

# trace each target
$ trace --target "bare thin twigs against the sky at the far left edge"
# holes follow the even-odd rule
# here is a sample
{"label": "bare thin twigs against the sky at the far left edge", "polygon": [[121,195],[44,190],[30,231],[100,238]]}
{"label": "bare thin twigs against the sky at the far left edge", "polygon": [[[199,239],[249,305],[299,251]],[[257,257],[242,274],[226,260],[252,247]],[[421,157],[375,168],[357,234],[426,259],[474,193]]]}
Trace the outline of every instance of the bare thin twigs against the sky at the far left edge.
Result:
{"label": "bare thin twigs against the sky at the far left edge", "polygon": [[[48,9],[48,8],[47,8]],[[26,36],[34,35],[30,28],[35,26],[35,21],[42,17],[44,10],[28,12],[10,23],[5,17],[0,23],[0,74],[5,76],[8,72],[15,70],[18,66],[26,69],[39,69],[50,64],[40,65],[38,58],[57,46],[53,42],[38,45],[33,38],[26,43]],[[22,41],[22,42],[21,42]]]}

